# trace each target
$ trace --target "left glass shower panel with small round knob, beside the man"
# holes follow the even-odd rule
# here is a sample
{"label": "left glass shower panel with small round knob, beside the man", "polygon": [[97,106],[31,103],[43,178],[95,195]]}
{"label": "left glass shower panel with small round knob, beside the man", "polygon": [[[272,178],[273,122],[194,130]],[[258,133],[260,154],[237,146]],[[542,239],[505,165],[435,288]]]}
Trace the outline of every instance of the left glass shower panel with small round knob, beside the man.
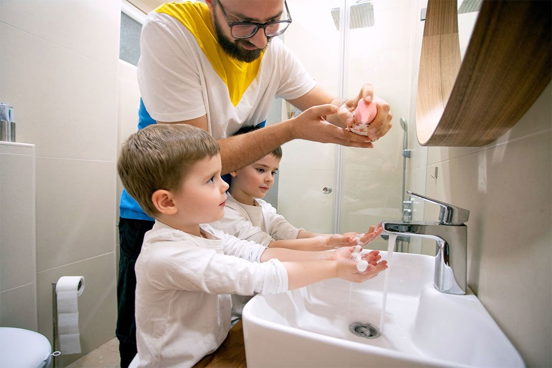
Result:
{"label": "left glass shower panel with small round knob, beside the man", "polygon": [[[284,43],[323,89],[339,95],[340,33],[331,10],[339,0],[288,2],[293,23]],[[297,114],[283,103],[282,119]],[[295,140],[282,146],[278,173],[278,213],[296,227],[322,233],[333,232],[333,202],[338,190],[336,146]]]}

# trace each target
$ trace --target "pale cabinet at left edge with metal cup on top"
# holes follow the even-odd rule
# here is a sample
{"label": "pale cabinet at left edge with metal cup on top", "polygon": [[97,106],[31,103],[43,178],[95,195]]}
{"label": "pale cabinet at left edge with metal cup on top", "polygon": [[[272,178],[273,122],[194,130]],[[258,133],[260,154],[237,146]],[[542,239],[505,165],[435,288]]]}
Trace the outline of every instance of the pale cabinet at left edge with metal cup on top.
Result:
{"label": "pale cabinet at left edge with metal cup on top", "polygon": [[35,146],[0,142],[0,326],[37,318]]}

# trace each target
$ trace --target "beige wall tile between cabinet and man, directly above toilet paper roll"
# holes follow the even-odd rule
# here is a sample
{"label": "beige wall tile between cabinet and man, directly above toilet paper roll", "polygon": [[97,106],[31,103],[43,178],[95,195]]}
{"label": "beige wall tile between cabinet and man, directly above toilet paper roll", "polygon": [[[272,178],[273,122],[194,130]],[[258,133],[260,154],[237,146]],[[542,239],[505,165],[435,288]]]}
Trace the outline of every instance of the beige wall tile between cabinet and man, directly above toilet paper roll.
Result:
{"label": "beige wall tile between cabinet and man, directly above toilet paper roll", "polygon": [[36,269],[113,252],[115,163],[36,158]]}

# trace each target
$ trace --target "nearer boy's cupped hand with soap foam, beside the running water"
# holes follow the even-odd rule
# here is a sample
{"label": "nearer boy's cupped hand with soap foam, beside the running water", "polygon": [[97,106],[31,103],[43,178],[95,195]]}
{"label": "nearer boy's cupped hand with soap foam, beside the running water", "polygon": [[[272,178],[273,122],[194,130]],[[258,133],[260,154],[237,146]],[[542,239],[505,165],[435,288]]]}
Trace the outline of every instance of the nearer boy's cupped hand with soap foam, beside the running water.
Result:
{"label": "nearer boy's cupped hand with soap foam, beside the running water", "polygon": [[363,282],[375,278],[388,267],[387,261],[381,260],[379,251],[372,250],[369,253],[362,254],[362,259],[368,262],[368,268],[364,272],[359,272],[357,262],[352,257],[353,252],[354,247],[339,248],[332,252],[335,253],[338,278],[352,282]]}

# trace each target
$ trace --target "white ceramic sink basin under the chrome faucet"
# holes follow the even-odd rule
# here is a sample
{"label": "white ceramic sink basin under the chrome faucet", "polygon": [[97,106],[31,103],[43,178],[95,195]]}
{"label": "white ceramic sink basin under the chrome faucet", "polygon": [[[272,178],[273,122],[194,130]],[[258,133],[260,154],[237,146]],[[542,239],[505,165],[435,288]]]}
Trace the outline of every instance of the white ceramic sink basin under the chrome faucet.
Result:
{"label": "white ceramic sink basin under the chrome faucet", "polygon": [[[380,252],[383,259],[387,252]],[[332,279],[243,308],[250,367],[523,367],[514,346],[477,297],[433,287],[434,257],[394,253],[377,278]],[[384,275],[391,271],[383,331]],[[360,322],[365,336],[349,327]],[[354,325],[353,325],[354,326]]]}

